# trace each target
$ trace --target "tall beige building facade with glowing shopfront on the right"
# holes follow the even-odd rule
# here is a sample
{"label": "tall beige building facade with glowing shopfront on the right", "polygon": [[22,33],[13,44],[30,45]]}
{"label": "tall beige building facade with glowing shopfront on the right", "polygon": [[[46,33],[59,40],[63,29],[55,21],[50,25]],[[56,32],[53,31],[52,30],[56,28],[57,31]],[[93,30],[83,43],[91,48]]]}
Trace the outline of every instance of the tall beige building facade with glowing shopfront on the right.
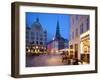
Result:
{"label": "tall beige building facade with glowing shopfront on the right", "polygon": [[70,16],[70,55],[73,58],[89,63],[90,55],[90,34],[89,16],[71,15]]}

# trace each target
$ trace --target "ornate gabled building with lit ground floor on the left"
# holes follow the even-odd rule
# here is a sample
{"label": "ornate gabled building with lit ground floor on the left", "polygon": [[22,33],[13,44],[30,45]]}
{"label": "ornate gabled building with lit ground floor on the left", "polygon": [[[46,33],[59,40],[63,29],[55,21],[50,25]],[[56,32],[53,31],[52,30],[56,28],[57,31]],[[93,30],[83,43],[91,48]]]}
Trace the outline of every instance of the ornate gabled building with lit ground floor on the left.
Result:
{"label": "ornate gabled building with lit ground floor on the left", "polygon": [[37,18],[32,26],[26,27],[26,51],[27,53],[46,53],[47,31],[43,30]]}

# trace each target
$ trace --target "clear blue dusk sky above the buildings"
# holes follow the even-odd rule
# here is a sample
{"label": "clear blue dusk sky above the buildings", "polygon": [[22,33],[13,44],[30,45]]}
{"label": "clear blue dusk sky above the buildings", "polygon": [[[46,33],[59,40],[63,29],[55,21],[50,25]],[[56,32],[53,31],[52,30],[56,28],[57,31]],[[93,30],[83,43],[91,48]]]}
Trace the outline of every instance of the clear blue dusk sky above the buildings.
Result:
{"label": "clear blue dusk sky above the buildings", "polygon": [[52,40],[55,36],[57,21],[59,22],[61,36],[65,39],[69,39],[70,15],[26,12],[27,26],[31,27],[32,23],[36,21],[36,18],[39,18],[42,28],[47,30],[47,36],[49,40]]}

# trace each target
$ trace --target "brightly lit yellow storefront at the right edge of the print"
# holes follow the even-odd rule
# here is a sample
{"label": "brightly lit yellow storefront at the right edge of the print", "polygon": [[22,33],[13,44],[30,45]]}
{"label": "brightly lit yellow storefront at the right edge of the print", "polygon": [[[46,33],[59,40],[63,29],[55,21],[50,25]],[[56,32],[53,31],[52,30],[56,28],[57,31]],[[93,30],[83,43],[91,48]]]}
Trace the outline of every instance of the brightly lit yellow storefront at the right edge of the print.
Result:
{"label": "brightly lit yellow storefront at the right edge of the print", "polygon": [[84,63],[90,61],[90,35],[89,31],[81,35],[81,60]]}

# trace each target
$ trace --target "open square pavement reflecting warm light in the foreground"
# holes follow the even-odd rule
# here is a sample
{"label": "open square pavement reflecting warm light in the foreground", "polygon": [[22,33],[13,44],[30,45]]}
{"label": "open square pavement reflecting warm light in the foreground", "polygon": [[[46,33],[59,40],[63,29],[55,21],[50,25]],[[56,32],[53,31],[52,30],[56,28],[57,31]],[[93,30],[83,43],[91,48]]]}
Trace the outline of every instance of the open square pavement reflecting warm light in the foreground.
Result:
{"label": "open square pavement reflecting warm light in the foreground", "polygon": [[39,56],[26,56],[26,67],[61,66],[62,56],[59,54],[44,54]]}

